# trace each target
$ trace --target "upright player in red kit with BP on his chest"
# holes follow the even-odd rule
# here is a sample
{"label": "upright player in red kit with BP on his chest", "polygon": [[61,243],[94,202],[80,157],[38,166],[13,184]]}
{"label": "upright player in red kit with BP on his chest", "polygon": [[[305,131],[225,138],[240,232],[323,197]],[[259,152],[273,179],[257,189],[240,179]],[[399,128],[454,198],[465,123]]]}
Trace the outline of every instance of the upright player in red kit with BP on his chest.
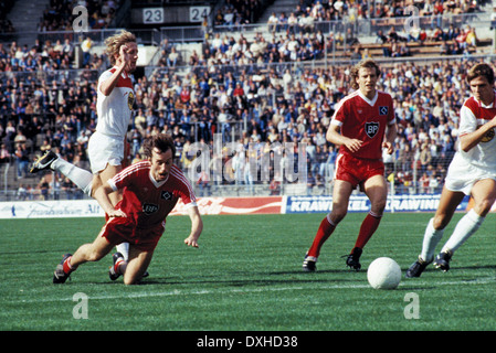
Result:
{"label": "upright player in red kit with BP on his chest", "polygon": [[372,60],[358,63],[351,69],[352,87],[357,90],[342,98],[333,116],[326,138],[340,146],[336,160],[333,210],[321,221],[308,249],[303,268],[315,271],[321,246],[348,212],[351,192],[360,186],[371,203],[355,247],[346,264],[359,270],[360,255],[379,226],[388,197],[382,148],[393,152],[397,136],[392,98],[376,88],[380,68]]}

